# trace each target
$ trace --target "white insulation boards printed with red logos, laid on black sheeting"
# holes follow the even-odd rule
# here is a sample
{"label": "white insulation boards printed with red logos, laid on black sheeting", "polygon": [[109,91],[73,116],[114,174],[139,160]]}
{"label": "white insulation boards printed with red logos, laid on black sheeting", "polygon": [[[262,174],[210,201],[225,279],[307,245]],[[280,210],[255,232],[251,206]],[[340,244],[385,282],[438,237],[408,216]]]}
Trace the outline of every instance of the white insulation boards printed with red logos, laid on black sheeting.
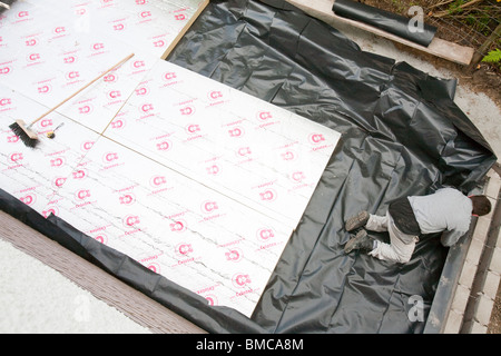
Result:
{"label": "white insulation boards printed with red logos, laid on black sheeting", "polygon": [[[250,316],[340,134],[161,60],[200,6],[33,0],[4,12],[0,188]],[[35,149],[9,129],[131,52],[37,122]]]}

